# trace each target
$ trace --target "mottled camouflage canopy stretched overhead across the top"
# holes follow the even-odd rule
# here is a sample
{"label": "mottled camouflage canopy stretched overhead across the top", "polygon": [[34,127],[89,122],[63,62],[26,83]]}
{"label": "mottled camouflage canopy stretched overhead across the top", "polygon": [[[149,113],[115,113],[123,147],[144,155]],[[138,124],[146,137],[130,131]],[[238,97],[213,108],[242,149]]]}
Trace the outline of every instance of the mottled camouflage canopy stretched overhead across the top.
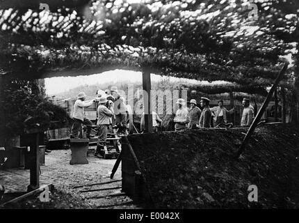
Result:
{"label": "mottled camouflage canopy stretched overhead across the top", "polygon": [[[280,70],[279,55],[293,47],[271,33],[280,27],[262,26],[272,22],[266,11],[259,23],[249,20],[245,0],[43,2],[49,11],[35,0],[1,3],[2,75],[30,79],[147,68],[173,77],[269,86]],[[292,18],[280,26],[287,22],[293,30]],[[291,70],[283,84],[293,84]]]}

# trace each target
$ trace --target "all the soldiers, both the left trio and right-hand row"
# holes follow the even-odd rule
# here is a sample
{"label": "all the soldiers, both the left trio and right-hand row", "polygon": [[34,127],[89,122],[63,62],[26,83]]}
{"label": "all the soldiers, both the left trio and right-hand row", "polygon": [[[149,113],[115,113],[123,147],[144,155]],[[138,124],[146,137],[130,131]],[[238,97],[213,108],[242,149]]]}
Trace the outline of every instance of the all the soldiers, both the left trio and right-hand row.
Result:
{"label": "all the soldiers, both the left trio and right-hand row", "polygon": [[[127,132],[127,106],[124,98],[118,93],[116,86],[111,87],[110,90],[97,93],[98,98],[86,100],[86,94],[81,92],[77,96],[74,103],[74,112],[71,138],[82,137],[82,126],[86,125],[86,137],[93,137],[90,135],[92,129],[92,122],[86,118],[84,108],[92,105],[93,102],[98,102],[97,107],[97,132],[98,132],[98,148],[106,144],[109,125],[117,127],[120,134]],[[227,125],[227,114],[232,114],[234,108],[227,110],[223,107],[223,100],[218,101],[217,107],[209,107],[209,98],[202,97],[200,100],[200,107],[197,107],[195,99],[191,99],[190,107],[186,108],[185,100],[179,98],[176,102],[178,109],[173,119],[175,123],[175,131],[184,131],[186,129],[195,128],[211,128],[220,125]],[[243,98],[243,114],[241,118],[241,126],[251,125],[254,119],[254,109],[250,105],[248,98]],[[159,123],[162,122],[156,112],[152,112],[152,128],[156,132]],[[140,128],[143,130],[144,112],[140,121]]]}

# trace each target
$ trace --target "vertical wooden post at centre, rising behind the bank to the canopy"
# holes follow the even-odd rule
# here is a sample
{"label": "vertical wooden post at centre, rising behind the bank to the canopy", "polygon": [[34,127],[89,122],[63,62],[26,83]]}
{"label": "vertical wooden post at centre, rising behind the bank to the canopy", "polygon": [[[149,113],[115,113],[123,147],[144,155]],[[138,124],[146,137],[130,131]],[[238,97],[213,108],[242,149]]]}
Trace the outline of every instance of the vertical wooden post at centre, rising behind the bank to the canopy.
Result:
{"label": "vertical wooden post at centre, rising behind the bank to the canopy", "polygon": [[[152,98],[151,98],[151,79],[150,71],[147,67],[143,68],[143,107],[145,112],[145,132],[152,132]],[[147,95],[145,95],[145,92]]]}

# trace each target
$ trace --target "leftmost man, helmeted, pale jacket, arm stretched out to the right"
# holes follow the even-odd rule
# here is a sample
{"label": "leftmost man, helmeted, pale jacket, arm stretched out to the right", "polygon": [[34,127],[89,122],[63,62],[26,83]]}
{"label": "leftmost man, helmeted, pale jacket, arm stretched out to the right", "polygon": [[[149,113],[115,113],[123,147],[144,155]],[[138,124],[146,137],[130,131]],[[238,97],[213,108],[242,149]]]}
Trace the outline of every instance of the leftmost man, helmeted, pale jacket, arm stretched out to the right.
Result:
{"label": "leftmost man, helmeted, pale jacket, arm stretched out to the right", "polygon": [[[81,132],[82,130],[82,124],[86,125],[87,127],[86,137],[90,138],[92,122],[88,118],[86,118],[84,113],[84,108],[90,107],[90,105],[92,105],[94,100],[95,99],[86,101],[86,94],[84,92],[80,92],[78,94],[77,100],[74,103],[74,112],[73,112],[74,123],[72,125],[72,132],[70,134],[71,138],[78,137],[78,132]],[[79,135],[80,137],[82,137],[81,134]]]}

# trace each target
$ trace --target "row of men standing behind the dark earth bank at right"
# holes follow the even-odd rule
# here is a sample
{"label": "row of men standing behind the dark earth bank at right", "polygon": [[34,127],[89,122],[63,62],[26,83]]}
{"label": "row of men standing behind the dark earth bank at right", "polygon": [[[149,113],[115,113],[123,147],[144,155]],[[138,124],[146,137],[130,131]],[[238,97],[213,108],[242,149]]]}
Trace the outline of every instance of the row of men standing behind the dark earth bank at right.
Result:
{"label": "row of men standing behind the dark earth bank at right", "polygon": [[[223,100],[218,101],[218,106],[210,108],[210,101],[209,98],[202,97],[200,100],[200,107],[202,107],[202,109],[200,109],[197,107],[196,100],[191,99],[190,107],[187,109],[184,107],[185,100],[179,98],[177,100],[178,109],[173,120],[175,122],[175,131],[211,128],[212,125],[213,127],[227,125],[227,114],[232,114],[234,108],[227,110],[223,107]],[[243,98],[242,105],[244,109],[241,118],[241,126],[249,126],[254,119],[254,108],[250,105],[248,98]]]}

